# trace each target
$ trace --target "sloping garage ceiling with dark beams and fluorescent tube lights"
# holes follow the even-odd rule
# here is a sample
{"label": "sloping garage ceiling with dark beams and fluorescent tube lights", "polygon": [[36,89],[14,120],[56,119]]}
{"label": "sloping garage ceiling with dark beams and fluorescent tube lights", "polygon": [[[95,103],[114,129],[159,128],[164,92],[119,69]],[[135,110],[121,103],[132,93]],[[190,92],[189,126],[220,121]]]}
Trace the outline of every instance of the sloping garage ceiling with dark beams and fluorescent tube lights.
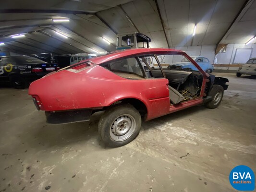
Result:
{"label": "sloping garage ceiling with dark beams and fluorescent tube lights", "polygon": [[[12,0],[0,8],[0,49],[60,55],[113,51],[116,34],[134,31],[151,37],[151,48],[246,43],[256,35],[255,12],[256,0]],[[70,21],[52,21],[61,18]]]}

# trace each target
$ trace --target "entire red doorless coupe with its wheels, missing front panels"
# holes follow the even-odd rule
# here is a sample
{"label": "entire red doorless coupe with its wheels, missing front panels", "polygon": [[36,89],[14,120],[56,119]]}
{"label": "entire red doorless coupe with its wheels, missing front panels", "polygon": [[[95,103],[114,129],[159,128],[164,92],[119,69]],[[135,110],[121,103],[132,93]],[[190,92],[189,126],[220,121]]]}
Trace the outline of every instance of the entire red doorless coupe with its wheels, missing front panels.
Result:
{"label": "entire red doorless coupe with its wheels, missing front panels", "polygon": [[[173,57],[185,57],[198,71],[166,69]],[[155,62],[159,69],[152,71]],[[169,63],[169,64],[170,64]],[[99,134],[108,146],[131,142],[141,120],[151,120],[205,103],[217,108],[228,88],[228,79],[204,72],[182,50],[165,48],[129,49],[73,64],[33,82],[29,95],[48,123],[90,120],[104,110]]]}

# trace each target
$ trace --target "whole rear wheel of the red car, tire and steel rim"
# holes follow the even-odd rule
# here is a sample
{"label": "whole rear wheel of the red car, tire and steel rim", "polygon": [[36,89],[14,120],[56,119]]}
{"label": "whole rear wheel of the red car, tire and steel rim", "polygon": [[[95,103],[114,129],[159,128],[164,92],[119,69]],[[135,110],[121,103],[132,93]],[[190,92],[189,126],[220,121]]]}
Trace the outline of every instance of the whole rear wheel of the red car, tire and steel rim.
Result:
{"label": "whole rear wheel of the red car, tire and steel rim", "polygon": [[[126,128],[127,124],[129,127]],[[130,104],[121,104],[104,112],[98,123],[98,132],[105,145],[120,147],[133,141],[140,127],[140,113]]]}

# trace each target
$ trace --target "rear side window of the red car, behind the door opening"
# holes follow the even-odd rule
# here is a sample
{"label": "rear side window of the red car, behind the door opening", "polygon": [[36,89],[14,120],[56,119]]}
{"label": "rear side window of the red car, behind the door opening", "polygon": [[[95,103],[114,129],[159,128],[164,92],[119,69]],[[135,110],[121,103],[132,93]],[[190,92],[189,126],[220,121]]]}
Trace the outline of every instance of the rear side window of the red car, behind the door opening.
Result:
{"label": "rear side window of the red car, behind the door opening", "polygon": [[131,73],[140,77],[144,76],[137,58],[115,60],[109,62],[108,65],[103,65],[103,67],[107,67],[112,72]]}

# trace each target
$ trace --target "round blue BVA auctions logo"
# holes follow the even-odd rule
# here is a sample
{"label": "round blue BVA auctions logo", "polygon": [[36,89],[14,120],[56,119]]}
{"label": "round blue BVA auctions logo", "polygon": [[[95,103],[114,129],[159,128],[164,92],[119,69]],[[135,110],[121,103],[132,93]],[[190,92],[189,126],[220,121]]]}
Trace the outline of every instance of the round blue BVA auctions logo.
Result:
{"label": "round blue BVA auctions logo", "polygon": [[255,176],[251,168],[239,165],[232,169],[229,181],[238,191],[253,191],[255,189]]}

